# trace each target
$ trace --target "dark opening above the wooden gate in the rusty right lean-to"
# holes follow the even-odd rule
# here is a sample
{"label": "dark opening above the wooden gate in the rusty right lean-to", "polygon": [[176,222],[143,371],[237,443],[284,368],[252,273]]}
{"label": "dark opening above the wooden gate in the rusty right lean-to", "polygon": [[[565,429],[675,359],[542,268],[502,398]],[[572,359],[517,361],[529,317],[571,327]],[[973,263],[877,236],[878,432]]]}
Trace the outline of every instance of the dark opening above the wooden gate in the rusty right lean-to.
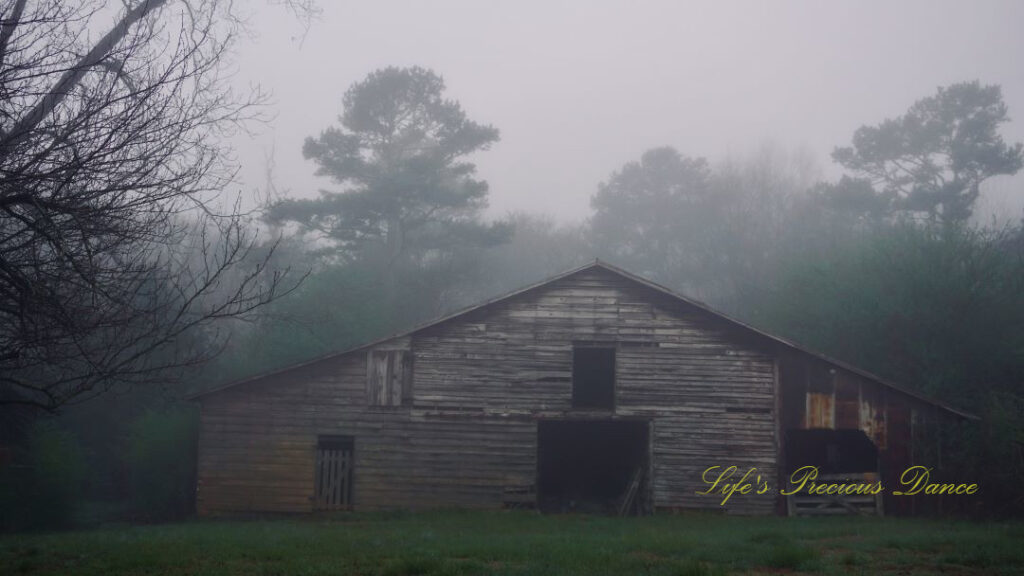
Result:
{"label": "dark opening above the wooden gate in the rusty right lean-to", "polygon": [[874,472],[879,449],[859,429],[791,429],[785,433],[786,474],[817,466],[823,475]]}

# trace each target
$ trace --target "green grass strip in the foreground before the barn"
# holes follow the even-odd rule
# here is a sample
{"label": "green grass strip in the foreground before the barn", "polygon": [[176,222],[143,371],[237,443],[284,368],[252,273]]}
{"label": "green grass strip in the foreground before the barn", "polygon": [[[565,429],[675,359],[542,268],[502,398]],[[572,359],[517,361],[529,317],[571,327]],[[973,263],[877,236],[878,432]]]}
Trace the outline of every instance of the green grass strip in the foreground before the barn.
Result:
{"label": "green grass strip in the foreground before the barn", "polygon": [[0,574],[1024,574],[1024,524],[347,515],[0,537]]}

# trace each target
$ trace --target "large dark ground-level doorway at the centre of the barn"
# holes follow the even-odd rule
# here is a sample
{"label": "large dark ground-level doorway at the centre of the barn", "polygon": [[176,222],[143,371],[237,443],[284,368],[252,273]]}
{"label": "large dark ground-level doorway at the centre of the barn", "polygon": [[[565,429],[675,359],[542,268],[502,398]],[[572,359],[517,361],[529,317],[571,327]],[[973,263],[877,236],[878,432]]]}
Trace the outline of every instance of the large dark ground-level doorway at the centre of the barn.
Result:
{"label": "large dark ground-level doorway at the centre of the barn", "polygon": [[648,427],[644,420],[539,422],[541,510],[645,511],[649,504]]}

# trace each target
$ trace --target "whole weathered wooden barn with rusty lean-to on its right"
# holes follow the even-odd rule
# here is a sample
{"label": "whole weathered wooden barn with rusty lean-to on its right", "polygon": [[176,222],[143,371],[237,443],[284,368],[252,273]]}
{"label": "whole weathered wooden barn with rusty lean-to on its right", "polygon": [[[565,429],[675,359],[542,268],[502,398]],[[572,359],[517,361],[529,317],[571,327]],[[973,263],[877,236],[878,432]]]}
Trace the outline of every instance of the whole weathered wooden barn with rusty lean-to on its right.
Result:
{"label": "whole weathered wooden barn with rusty lean-to on its right", "polygon": [[[797,467],[895,485],[970,417],[599,261],[196,400],[203,515],[786,513]],[[772,491],[698,494],[731,465]]]}

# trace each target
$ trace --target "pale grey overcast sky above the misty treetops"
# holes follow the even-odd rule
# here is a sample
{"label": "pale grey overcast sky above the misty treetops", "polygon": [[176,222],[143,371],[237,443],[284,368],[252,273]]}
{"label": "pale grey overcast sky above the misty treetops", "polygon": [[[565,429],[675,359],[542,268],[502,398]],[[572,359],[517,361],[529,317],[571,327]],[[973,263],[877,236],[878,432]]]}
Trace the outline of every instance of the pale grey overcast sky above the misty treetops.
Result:
{"label": "pale grey overcast sky above the misty treetops", "polygon": [[[817,159],[863,124],[902,114],[936,87],[1002,86],[1008,140],[1024,140],[1024,2],[610,2],[321,0],[302,35],[253,3],[238,81],[273,94],[275,118],[240,139],[244,191],[313,197],[332,182],[302,158],[336,123],[353,82],[387,66],[444,77],[470,119],[501,141],[475,157],[492,215],[578,220],[597,184],[647,149],[718,161],[770,142]],[[257,7],[258,6],[258,7]],[[1024,178],[993,182],[987,211],[1019,214]]]}

